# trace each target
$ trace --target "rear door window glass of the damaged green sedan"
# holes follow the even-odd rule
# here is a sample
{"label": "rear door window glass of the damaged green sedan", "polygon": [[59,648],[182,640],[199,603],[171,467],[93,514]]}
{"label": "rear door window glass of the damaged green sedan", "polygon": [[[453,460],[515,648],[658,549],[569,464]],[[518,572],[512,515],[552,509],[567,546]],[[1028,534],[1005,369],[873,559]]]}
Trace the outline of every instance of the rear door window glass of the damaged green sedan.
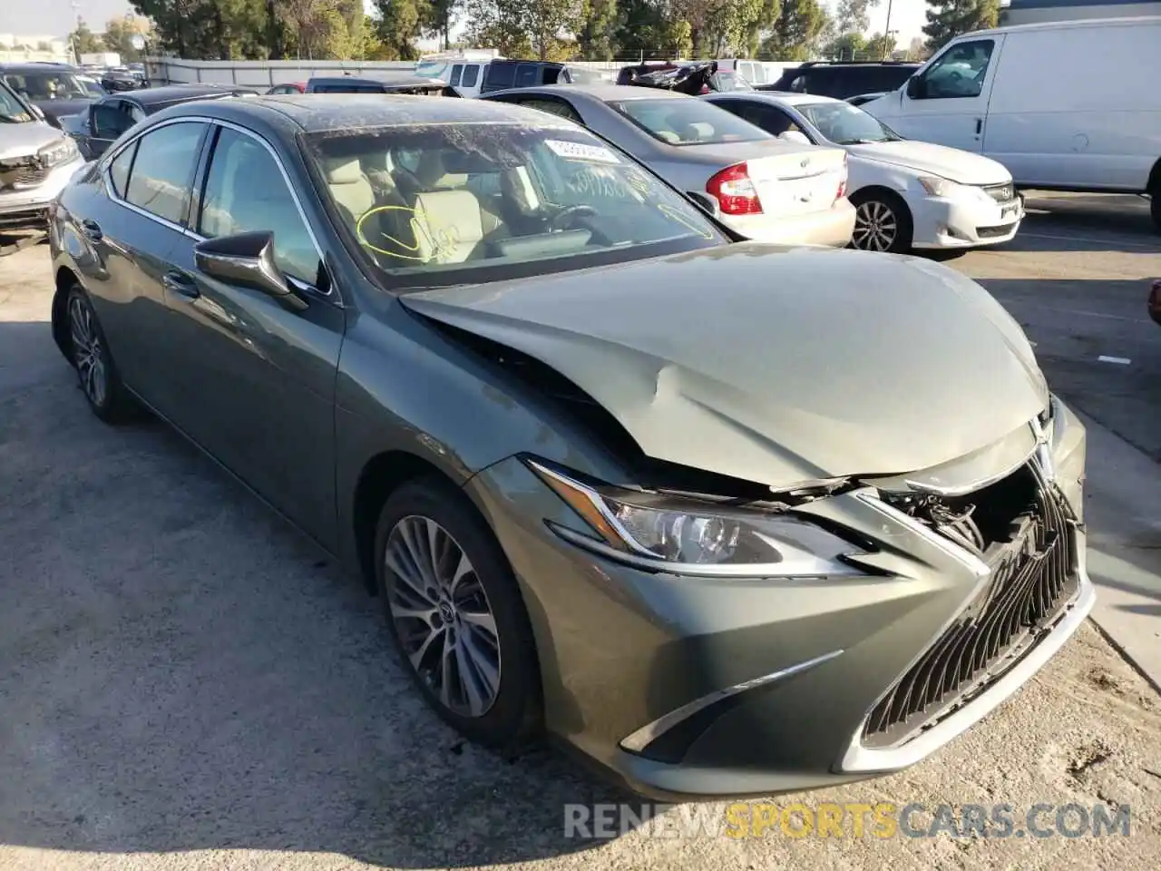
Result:
{"label": "rear door window glass of the damaged green sedan", "polygon": [[125,188],[125,200],[152,215],[180,224],[205,124],[185,121],[145,134]]}

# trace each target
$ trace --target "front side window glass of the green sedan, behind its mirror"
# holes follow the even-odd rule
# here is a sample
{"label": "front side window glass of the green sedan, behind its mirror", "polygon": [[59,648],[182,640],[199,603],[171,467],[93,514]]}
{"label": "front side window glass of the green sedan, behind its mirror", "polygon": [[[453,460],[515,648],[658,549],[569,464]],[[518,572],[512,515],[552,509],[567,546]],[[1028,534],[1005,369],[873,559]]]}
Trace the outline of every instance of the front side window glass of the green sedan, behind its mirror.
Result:
{"label": "front side window glass of the green sedan, behind its mirror", "polygon": [[277,161],[251,136],[222,128],[202,196],[197,232],[207,238],[274,233],[274,260],[288,275],[313,285],[318,251]]}

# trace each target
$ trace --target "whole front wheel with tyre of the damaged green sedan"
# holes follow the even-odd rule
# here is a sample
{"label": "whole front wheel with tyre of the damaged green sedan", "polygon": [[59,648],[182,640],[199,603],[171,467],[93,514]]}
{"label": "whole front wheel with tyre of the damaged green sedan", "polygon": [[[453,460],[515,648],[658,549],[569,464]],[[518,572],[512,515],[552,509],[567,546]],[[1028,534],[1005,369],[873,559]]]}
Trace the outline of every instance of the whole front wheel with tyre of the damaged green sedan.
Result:
{"label": "whole front wheel with tyre of the damaged green sedan", "polygon": [[388,497],[375,574],[391,638],[427,704],[498,750],[540,728],[540,670],[520,588],[475,506],[439,478]]}

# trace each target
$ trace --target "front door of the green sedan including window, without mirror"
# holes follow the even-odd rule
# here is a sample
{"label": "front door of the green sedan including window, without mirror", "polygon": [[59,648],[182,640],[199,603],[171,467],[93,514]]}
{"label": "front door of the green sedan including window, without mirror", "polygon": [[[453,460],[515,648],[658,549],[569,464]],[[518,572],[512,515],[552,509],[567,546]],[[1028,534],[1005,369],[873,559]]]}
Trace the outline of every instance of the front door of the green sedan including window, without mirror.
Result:
{"label": "front door of the green sedan including window, without mirror", "polygon": [[211,238],[268,230],[275,261],[305,300],[295,310],[175,255],[166,298],[175,423],[324,545],[334,544],[334,379],[345,329],[338,291],[280,159],[259,137],[217,128],[194,228]]}

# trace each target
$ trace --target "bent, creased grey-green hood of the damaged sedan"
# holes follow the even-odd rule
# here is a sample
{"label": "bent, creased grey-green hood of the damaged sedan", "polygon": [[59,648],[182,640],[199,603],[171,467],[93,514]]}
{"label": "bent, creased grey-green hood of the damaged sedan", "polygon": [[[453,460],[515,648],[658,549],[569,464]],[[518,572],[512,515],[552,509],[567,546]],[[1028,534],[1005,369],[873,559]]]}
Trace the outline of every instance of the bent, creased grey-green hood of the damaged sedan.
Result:
{"label": "bent, creased grey-green hood of the damaged sedan", "polygon": [[774,489],[944,463],[1048,398],[1007,311],[914,258],[740,244],[402,300],[554,367],[647,455]]}

